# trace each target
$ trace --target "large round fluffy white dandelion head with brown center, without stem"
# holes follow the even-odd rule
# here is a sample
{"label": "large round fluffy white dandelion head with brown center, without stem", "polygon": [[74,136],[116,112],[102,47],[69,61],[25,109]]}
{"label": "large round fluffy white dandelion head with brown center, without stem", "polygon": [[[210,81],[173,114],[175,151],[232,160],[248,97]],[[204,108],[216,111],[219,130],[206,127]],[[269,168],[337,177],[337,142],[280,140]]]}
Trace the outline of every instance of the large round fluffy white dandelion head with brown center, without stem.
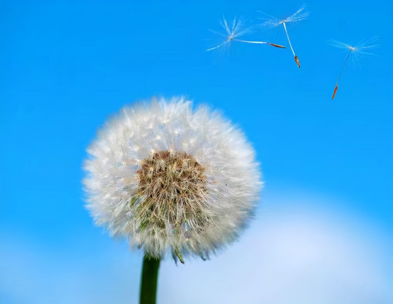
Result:
{"label": "large round fluffy white dandelion head with brown center, without stem", "polygon": [[96,224],[156,258],[206,258],[236,240],[262,185],[244,134],[183,98],[123,108],[87,151]]}

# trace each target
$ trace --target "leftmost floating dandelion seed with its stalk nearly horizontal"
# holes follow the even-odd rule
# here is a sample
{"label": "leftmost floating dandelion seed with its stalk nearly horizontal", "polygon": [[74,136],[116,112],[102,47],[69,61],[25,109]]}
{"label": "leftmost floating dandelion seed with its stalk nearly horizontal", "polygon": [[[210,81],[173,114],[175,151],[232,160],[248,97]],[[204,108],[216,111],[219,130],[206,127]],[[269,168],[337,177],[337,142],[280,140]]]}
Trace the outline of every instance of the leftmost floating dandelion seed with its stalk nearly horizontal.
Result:
{"label": "leftmost floating dandelion seed with its stalk nearly horizontal", "polygon": [[241,18],[233,19],[233,24],[232,24],[232,28],[230,29],[230,27],[228,26],[228,22],[226,21],[225,17],[223,17],[223,20],[220,21],[221,26],[225,29],[225,33],[220,33],[217,31],[213,31],[210,29],[210,31],[212,31],[213,33],[216,33],[218,35],[224,36],[226,38],[226,40],[222,43],[220,43],[217,46],[214,46],[213,48],[209,48],[207,51],[212,51],[218,48],[222,48],[222,50],[226,50],[230,45],[232,41],[239,41],[239,42],[246,42],[246,43],[257,43],[257,44],[269,44],[271,46],[275,46],[276,48],[285,48],[285,46],[279,45],[279,44],[275,44],[275,43],[270,43],[270,42],[265,42],[265,41],[246,41],[246,40],[241,40],[239,39],[239,37],[243,36],[243,35],[247,35],[247,34],[251,34],[253,33],[253,28],[255,28],[255,26],[249,26],[247,28],[243,28],[243,20]]}

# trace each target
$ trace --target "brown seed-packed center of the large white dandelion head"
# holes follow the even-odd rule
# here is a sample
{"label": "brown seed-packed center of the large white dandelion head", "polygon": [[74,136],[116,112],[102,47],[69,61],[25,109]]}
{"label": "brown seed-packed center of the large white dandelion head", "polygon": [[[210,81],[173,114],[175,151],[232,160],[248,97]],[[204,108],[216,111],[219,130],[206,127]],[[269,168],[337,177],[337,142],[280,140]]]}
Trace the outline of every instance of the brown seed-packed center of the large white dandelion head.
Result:
{"label": "brown seed-packed center of the large white dandelion head", "polygon": [[179,233],[180,228],[202,228],[208,221],[202,209],[209,194],[204,172],[185,152],[155,151],[142,160],[136,194],[142,198],[136,209],[140,229],[171,227]]}

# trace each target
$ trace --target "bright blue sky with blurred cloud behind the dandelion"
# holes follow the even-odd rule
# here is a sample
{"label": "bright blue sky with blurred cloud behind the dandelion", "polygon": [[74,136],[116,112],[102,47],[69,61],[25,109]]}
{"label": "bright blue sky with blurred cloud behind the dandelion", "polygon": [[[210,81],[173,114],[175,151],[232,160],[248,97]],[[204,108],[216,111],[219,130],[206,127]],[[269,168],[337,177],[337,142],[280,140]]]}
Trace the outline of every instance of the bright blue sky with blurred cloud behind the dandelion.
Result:
{"label": "bright blue sky with blurred cloud behind the dandelion", "polygon": [[[257,151],[265,188],[244,244],[201,264],[211,267],[190,261],[187,272],[187,264],[173,268],[171,261],[164,263],[160,280],[166,287],[159,289],[160,302],[181,303],[187,297],[165,283],[165,275],[185,271],[191,281],[185,289],[206,290],[207,298],[199,302],[217,297],[212,302],[229,303],[219,297],[223,290],[213,288],[214,282],[204,286],[202,278],[208,273],[222,281],[227,267],[220,261],[239,260],[239,244],[255,243],[258,259],[269,261],[286,252],[294,266],[302,265],[307,255],[301,252],[312,247],[316,272],[288,266],[282,278],[294,277],[286,282],[288,290],[296,286],[289,298],[269,298],[266,287],[266,298],[250,291],[250,303],[321,303],[318,295],[324,292],[358,303],[353,297],[366,292],[361,287],[374,285],[365,298],[391,301],[393,29],[387,24],[393,2],[307,3],[309,18],[288,27],[301,68],[283,28],[251,37],[284,44],[285,50],[233,43],[223,54],[203,52],[220,42],[208,29],[220,31],[223,15],[257,24],[263,17],[258,11],[285,18],[302,4],[1,1],[1,302],[136,302],[141,254],[93,226],[83,206],[81,164],[97,127],[110,114],[134,101],[174,95],[221,109],[243,129]],[[362,58],[360,68],[347,66],[331,100],[345,53],[326,41],[356,44],[373,35],[379,36],[380,48]],[[292,244],[293,231],[311,247]],[[312,231],[320,234],[314,238]],[[271,247],[274,237],[286,247]],[[334,246],[347,255],[338,260],[325,256]],[[295,247],[299,255],[291,254]],[[362,261],[361,266],[354,261]],[[281,282],[278,266],[272,265],[262,263],[261,273],[274,273]],[[345,265],[360,267],[367,280],[347,277]],[[200,267],[207,267],[206,272]],[[233,267],[227,276],[239,283],[233,289],[237,294],[244,290],[239,271]],[[327,283],[312,298],[307,288],[315,278]],[[327,290],[337,278],[347,278],[348,288]],[[324,299],[329,303],[329,297]]]}

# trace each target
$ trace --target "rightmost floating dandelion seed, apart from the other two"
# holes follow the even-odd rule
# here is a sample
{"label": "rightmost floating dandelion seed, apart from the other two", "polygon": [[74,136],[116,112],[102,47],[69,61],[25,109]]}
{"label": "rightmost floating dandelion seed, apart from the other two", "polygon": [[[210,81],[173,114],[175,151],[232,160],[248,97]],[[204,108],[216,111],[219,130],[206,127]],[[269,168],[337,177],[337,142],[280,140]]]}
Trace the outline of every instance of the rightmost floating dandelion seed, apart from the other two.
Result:
{"label": "rightmost floating dandelion seed, apart from the other two", "polygon": [[336,92],[337,92],[337,88],[338,88],[338,80],[340,79],[345,66],[349,62],[349,59],[351,59],[351,62],[354,67],[360,66],[360,58],[359,58],[360,55],[375,55],[373,53],[370,53],[369,50],[372,50],[373,48],[377,48],[379,46],[377,44],[373,44],[375,41],[377,41],[377,39],[378,39],[378,36],[373,36],[369,40],[362,39],[355,46],[350,46],[349,44],[345,44],[343,42],[336,41],[333,39],[327,41],[327,44],[334,46],[336,48],[345,49],[346,51],[344,51],[344,52],[347,53],[344,57],[344,60],[343,60],[342,66],[341,66],[341,70],[340,70],[340,72],[338,72],[338,76],[336,79],[336,87],[334,87],[332,99],[334,99],[334,96],[336,96]]}

